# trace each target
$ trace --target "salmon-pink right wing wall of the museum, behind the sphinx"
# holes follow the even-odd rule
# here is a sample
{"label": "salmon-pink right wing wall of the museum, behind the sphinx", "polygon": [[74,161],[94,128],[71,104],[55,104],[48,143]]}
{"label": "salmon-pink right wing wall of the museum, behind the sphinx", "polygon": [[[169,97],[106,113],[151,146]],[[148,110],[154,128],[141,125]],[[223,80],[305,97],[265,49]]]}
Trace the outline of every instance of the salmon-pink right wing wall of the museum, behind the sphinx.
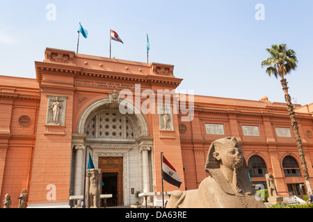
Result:
{"label": "salmon-pink right wing wall of the museum, behind the sphinx", "polygon": [[[298,112],[296,117],[312,180],[313,138],[306,133],[307,130],[310,132],[313,130],[312,115]],[[224,134],[207,134],[206,123],[223,125]],[[305,183],[302,177],[285,177],[282,169],[282,160],[286,155],[294,157],[301,167],[294,132],[284,103],[195,96],[193,121],[180,122],[180,124],[186,126],[186,132],[180,135],[186,189],[197,188],[203,178],[207,176],[204,172],[204,164],[211,142],[229,136],[234,136],[241,142],[247,163],[252,155],[262,157],[268,173],[272,173],[275,178],[279,195],[289,196],[287,189],[289,183]],[[242,126],[257,126],[259,135],[244,135]],[[275,133],[277,127],[289,128],[291,137],[278,137]],[[262,180],[265,178],[252,178],[252,181]]]}

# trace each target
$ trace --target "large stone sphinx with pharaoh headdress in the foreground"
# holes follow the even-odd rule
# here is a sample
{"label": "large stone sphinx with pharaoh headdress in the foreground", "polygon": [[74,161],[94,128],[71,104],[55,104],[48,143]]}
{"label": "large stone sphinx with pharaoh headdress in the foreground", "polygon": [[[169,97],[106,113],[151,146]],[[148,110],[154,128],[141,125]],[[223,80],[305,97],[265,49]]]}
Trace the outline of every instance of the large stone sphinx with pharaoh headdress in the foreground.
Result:
{"label": "large stone sphinx with pharaoh headdress in the foreground", "polygon": [[211,143],[205,171],[210,176],[202,180],[198,189],[172,191],[166,207],[265,208],[262,200],[255,196],[241,144],[235,137]]}

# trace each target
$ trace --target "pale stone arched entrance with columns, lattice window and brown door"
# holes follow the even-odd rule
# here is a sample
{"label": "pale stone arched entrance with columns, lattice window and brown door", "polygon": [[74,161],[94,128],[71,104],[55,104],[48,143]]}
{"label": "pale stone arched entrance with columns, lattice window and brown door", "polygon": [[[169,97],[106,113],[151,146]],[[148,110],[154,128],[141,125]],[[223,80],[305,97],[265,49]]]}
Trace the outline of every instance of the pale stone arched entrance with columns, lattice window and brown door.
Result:
{"label": "pale stone arched entrance with columns, lattice window and brown door", "polygon": [[[136,110],[131,103],[127,107]],[[83,194],[82,168],[88,164],[89,153],[95,168],[102,171],[102,192],[113,192],[111,204],[134,204],[134,192],[152,190],[152,137],[143,114],[133,113],[122,114],[119,103],[110,98],[95,101],[83,111],[77,134],[72,135],[74,195]]]}

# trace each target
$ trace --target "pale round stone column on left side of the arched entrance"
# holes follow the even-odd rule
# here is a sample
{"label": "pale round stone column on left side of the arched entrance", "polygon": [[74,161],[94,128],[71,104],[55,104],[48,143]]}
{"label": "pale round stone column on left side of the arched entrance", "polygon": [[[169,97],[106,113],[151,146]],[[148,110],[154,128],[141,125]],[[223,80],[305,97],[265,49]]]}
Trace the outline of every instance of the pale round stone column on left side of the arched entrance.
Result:
{"label": "pale round stone column on left side of the arched entrance", "polygon": [[75,179],[74,179],[74,195],[82,194],[83,187],[83,150],[85,146],[76,145],[76,160],[75,160]]}

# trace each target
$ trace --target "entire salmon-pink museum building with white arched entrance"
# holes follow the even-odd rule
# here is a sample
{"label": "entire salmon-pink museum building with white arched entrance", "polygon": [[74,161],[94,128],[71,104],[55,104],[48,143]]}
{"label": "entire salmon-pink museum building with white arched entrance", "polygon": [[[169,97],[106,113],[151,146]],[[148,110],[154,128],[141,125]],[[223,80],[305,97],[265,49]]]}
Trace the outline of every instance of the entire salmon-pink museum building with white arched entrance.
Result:
{"label": "entire salmon-pink museum building with white arched entrance", "polygon": [[[197,189],[211,142],[230,136],[257,189],[271,173],[279,196],[305,194],[285,103],[179,94],[173,65],[61,49],[45,49],[35,71],[36,79],[0,76],[0,191],[11,207],[23,189],[27,207],[69,206],[83,195],[89,155],[102,194],[113,194],[109,205],[162,190],[161,152],[182,180],[179,188],[164,181],[164,191]],[[313,103],[294,106],[313,182]]]}

